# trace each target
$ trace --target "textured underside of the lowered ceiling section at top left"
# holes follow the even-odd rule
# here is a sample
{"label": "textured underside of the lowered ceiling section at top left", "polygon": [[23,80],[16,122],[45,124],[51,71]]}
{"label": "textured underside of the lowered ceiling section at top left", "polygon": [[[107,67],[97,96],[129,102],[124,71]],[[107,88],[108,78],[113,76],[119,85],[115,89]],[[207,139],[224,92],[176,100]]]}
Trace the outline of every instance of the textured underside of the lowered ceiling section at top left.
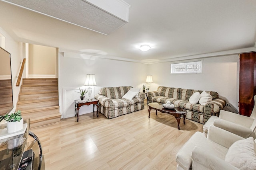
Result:
{"label": "textured underside of the lowered ceiling section at top left", "polygon": [[86,0],[5,0],[5,2],[106,35],[127,22]]}

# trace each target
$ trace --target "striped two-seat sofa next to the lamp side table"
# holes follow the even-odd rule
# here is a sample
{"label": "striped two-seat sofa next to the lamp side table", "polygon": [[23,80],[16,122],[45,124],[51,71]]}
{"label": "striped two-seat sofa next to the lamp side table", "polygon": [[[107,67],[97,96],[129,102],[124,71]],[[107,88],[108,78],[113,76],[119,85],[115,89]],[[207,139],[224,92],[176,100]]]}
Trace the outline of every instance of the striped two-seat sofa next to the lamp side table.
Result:
{"label": "striped two-seat sofa next to the lamp side table", "polygon": [[132,100],[122,98],[131,86],[104,87],[95,96],[99,101],[98,110],[108,119],[144,109],[145,93],[139,92]]}

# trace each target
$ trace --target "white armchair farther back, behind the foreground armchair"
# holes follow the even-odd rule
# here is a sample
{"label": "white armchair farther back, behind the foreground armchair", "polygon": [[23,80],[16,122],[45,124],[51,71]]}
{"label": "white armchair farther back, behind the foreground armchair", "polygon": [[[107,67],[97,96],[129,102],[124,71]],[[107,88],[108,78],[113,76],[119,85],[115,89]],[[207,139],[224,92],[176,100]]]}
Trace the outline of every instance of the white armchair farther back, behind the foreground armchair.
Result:
{"label": "white armchair farther back, behind the foreground armchair", "polygon": [[203,126],[204,134],[207,135],[210,125],[214,125],[244,138],[256,139],[255,109],[250,117],[221,110],[220,117],[212,116]]}

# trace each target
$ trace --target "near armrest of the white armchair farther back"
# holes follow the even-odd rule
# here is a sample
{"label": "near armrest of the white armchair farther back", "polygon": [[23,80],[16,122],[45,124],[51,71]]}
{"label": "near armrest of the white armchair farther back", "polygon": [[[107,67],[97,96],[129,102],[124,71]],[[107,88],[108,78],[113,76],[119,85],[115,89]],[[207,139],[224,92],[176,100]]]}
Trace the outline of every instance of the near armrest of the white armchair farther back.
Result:
{"label": "near armrest of the white armchair farther back", "polygon": [[223,119],[215,119],[213,125],[244,138],[250,137],[252,133],[252,129]]}

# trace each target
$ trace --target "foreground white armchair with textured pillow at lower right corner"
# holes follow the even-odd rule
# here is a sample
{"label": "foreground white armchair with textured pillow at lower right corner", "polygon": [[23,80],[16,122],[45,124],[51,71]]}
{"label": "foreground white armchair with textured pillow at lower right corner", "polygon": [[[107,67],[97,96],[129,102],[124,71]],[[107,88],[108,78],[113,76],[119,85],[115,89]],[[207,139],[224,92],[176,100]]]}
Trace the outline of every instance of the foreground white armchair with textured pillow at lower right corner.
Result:
{"label": "foreground white armchair with textured pillow at lower right corner", "polygon": [[[248,140],[252,143],[250,146],[253,146],[250,152],[246,143]],[[240,146],[236,147],[238,144],[245,146],[246,151],[241,149],[242,147]],[[178,151],[176,154],[177,170],[255,169],[255,145],[255,141],[252,138],[244,139],[234,133],[210,126],[207,138],[203,133],[196,132]],[[237,150],[242,154],[238,153]],[[236,158],[231,158],[233,162],[230,159],[228,160],[230,155],[236,156]],[[253,156],[251,158],[248,155]],[[239,164],[236,164],[237,162]],[[252,162],[252,164],[248,165],[248,162]]]}

